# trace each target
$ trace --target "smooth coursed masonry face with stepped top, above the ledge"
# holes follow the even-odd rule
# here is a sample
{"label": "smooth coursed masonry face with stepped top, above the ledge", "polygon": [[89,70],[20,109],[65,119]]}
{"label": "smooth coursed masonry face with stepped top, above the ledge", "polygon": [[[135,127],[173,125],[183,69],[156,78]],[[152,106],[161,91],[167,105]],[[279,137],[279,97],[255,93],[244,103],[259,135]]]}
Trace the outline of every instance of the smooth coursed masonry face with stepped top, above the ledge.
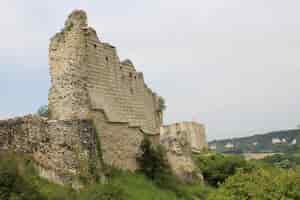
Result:
{"label": "smooth coursed masonry face with stepped top, above the ledge", "polygon": [[130,60],[120,62],[116,48],[88,32],[88,89],[93,109],[103,109],[111,122],[128,122],[158,134],[161,121],[157,96]]}

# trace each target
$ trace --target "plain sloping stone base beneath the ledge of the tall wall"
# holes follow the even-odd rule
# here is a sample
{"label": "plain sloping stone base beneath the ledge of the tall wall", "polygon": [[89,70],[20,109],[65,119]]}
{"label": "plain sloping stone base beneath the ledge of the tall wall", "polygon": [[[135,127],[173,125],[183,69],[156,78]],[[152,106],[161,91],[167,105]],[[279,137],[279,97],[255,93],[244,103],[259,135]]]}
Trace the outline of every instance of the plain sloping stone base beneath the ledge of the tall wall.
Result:
{"label": "plain sloping stone base beneath the ledge of the tall wall", "polygon": [[101,111],[94,111],[93,115],[104,163],[120,169],[136,170],[136,156],[144,138],[142,130],[129,127],[129,123],[110,122]]}

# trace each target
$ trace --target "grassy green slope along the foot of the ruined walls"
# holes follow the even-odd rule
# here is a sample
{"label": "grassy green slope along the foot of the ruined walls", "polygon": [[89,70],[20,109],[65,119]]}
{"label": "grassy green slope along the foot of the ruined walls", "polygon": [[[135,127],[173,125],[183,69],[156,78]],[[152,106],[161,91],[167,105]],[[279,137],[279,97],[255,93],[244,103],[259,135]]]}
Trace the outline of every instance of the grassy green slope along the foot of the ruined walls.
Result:
{"label": "grassy green slope along the foot of the ruined walls", "polygon": [[168,181],[158,186],[141,173],[110,169],[106,179],[79,191],[38,176],[27,156],[0,154],[1,200],[202,200],[203,184]]}

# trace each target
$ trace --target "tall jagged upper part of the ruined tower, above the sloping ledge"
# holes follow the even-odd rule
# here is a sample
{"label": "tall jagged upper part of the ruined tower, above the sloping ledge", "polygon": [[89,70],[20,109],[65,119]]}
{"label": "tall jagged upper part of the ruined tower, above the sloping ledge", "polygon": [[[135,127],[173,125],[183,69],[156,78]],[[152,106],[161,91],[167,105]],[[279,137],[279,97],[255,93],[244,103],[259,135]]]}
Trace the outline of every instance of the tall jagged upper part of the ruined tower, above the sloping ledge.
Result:
{"label": "tall jagged upper part of the ruined tower, above the sloping ledge", "polygon": [[50,44],[52,87],[49,108],[54,119],[88,118],[103,110],[111,122],[129,123],[159,133],[162,112],[157,96],[130,60],[98,39],[86,13],[73,11]]}

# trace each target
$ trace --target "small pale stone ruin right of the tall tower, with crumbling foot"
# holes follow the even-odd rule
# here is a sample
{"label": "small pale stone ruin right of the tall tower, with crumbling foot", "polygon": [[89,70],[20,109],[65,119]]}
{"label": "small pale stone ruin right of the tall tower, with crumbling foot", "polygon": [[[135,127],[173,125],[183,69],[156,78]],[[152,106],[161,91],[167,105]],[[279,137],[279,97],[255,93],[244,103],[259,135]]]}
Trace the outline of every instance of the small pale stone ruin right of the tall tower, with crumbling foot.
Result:
{"label": "small pale stone ruin right of the tall tower, with crumbling foot", "polygon": [[204,125],[180,122],[162,126],[160,142],[167,150],[173,172],[184,181],[192,181],[197,174],[192,152],[207,148]]}

